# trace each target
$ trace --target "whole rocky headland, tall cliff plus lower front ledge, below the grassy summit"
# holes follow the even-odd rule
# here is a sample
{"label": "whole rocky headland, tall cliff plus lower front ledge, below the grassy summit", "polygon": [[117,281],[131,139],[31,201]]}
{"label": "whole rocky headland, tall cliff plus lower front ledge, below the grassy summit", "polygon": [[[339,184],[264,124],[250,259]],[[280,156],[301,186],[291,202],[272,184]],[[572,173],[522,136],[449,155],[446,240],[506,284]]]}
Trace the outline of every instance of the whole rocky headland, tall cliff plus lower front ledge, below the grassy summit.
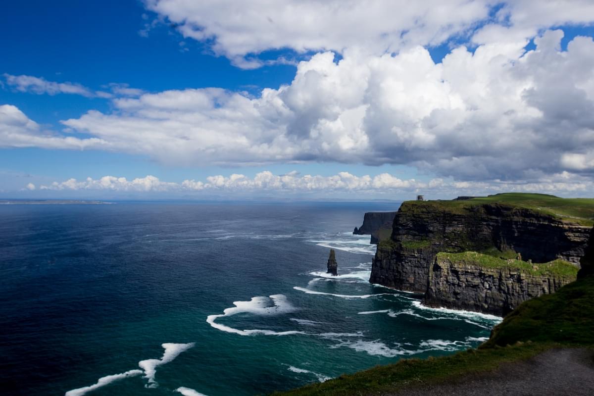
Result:
{"label": "whole rocky headland, tall cliff plus lower front ledge, below the grassy summit", "polygon": [[[427,305],[501,315],[575,279],[591,227],[571,220],[507,202],[406,201],[390,239],[378,244],[369,281],[427,293]],[[480,252],[503,263],[437,260],[440,252]],[[571,275],[563,267],[557,276],[541,267],[520,271],[505,260],[529,266],[561,260],[576,269]],[[594,262],[594,251],[584,260]]]}

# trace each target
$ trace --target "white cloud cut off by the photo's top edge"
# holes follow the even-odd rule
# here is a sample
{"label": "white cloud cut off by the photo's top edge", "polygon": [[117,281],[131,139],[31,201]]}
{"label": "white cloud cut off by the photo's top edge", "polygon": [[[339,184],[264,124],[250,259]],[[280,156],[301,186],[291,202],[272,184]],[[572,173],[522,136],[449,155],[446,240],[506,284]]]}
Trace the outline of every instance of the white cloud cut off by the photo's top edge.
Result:
{"label": "white cloud cut off by the photo's top edge", "polygon": [[589,0],[144,2],[185,37],[212,43],[215,53],[244,68],[261,66],[250,54],[270,49],[342,52],[358,48],[382,55],[475,34],[474,41],[481,44],[503,36],[523,41],[542,28],[591,23],[594,15]]}

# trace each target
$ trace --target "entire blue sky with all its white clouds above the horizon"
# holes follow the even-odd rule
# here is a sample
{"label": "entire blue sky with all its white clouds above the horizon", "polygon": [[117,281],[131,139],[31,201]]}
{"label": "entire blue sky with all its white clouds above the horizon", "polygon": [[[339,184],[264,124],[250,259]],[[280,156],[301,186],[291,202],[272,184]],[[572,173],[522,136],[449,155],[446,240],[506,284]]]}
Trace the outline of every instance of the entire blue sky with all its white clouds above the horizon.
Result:
{"label": "entire blue sky with all its white clouds above the horizon", "polygon": [[587,2],[224,3],[3,5],[0,195],[592,195]]}

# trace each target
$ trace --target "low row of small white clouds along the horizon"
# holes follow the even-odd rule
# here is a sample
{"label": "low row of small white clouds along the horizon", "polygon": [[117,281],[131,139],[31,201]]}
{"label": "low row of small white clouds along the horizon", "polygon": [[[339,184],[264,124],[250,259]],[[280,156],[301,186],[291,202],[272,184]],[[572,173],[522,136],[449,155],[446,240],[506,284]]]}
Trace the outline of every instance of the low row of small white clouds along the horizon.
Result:
{"label": "low row of small white clouds along the horizon", "polygon": [[482,195],[497,192],[525,191],[545,192],[550,194],[576,195],[580,192],[592,191],[594,182],[583,176],[568,172],[547,176],[538,183],[508,183],[501,180],[492,182],[458,182],[456,180],[431,179],[427,182],[415,179],[400,179],[389,173],[376,176],[356,176],[349,172],[339,172],[333,176],[299,175],[290,172],[286,175],[274,175],[264,171],[253,178],[245,175],[208,176],[206,180],[184,180],[181,183],[164,182],[155,176],[146,176],[128,180],[114,176],[103,176],[100,179],[87,178],[78,181],[68,179],[64,182],[53,182],[40,186],[40,190],[55,191],[110,191],[110,192],[175,192],[175,193],[210,193],[235,194],[242,192],[266,193],[285,192],[287,194],[303,194],[322,192],[324,194],[345,193],[385,193],[413,194],[422,191],[435,196]]}

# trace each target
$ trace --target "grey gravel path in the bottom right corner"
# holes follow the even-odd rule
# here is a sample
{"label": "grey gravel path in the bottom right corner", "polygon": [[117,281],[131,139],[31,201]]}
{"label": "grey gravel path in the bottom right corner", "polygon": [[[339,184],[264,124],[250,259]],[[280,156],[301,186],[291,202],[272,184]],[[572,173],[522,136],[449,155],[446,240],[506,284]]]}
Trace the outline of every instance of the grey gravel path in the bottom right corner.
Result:
{"label": "grey gravel path in the bottom right corner", "polygon": [[553,349],[494,372],[463,376],[450,384],[406,387],[384,396],[592,396],[594,351]]}

